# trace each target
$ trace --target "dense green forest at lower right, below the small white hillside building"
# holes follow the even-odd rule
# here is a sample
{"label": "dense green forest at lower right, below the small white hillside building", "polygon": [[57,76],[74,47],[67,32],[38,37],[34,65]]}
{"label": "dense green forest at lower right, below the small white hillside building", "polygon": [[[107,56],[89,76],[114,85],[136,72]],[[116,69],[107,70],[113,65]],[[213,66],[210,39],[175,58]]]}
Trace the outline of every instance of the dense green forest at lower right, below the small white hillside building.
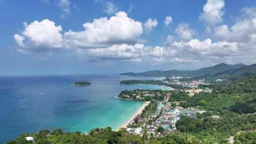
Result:
{"label": "dense green forest at lower right, below the small white hillside building", "polygon": [[184,133],[196,135],[210,143],[213,139],[216,142],[226,142],[231,135],[238,131],[251,131],[256,129],[256,115],[239,115],[233,112],[215,113],[219,118],[212,118],[214,112],[198,114],[198,119],[182,117],[176,123],[177,128]]}

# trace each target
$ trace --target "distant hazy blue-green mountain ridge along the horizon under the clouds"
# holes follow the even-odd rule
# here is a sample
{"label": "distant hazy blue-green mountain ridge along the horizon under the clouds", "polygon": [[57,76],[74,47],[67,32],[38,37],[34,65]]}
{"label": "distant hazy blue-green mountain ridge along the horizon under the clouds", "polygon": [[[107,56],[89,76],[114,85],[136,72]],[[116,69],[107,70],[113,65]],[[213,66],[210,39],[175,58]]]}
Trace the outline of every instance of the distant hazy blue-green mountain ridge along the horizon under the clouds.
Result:
{"label": "distant hazy blue-green mountain ridge along the horizon under the clouds", "polygon": [[164,76],[164,77],[170,77],[170,76],[192,76],[192,77],[207,77],[207,76],[214,76],[217,74],[217,76],[227,74],[230,72],[235,72],[236,70],[239,70],[243,67],[246,67],[246,64],[243,63],[237,63],[237,64],[227,64],[227,63],[219,63],[214,66],[200,68],[196,70],[169,70],[169,71],[161,71],[161,70],[155,70],[155,71],[147,71],[147,72],[127,72],[127,73],[121,73],[120,75],[128,75],[128,76]]}

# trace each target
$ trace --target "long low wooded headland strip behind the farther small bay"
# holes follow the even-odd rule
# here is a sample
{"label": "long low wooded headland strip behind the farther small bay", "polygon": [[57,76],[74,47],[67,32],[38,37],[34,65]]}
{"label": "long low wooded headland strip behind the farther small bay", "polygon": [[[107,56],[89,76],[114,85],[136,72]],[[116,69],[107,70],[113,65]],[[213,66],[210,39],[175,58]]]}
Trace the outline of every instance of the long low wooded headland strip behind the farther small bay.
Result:
{"label": "long low wooded headland strip behind the farther small bay", "polygon": [[137,84],[137,83],[142,83],[142,84],[158,84],[158,85],[164,85],[167,87],[171,87],[174,89],[180,89],[181,86],[177,84],[171,84],[171,83],[165,83],[160,80],[124,80],[120,81],[120,84]]}

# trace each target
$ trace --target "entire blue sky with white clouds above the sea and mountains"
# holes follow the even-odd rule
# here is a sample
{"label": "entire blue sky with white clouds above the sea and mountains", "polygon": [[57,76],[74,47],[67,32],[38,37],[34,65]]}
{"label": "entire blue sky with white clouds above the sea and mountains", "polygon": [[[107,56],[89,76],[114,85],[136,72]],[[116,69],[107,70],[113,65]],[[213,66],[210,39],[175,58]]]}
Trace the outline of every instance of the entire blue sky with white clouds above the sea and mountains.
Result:
{"label": "entire blue sky with white clouds above the sea and mountains", "polygon": [[0,0],[0,9],[0,75],[256,63],[254,0]]}

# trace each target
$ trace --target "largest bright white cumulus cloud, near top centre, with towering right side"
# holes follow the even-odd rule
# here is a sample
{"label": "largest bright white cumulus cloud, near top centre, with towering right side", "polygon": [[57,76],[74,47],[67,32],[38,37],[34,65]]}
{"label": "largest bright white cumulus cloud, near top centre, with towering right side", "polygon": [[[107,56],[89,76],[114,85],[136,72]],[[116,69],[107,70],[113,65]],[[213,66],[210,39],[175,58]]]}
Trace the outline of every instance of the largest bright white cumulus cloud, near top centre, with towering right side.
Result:
{"label": "largest bright white cumulus cloud, near top centre, with towering right side", "polygon": [[66,45],[93,48],[121,43],[137,43],[143,33],[142,24],[120,11],[111,18],[94,19],[83,24],[84,31],[64,34]]}

